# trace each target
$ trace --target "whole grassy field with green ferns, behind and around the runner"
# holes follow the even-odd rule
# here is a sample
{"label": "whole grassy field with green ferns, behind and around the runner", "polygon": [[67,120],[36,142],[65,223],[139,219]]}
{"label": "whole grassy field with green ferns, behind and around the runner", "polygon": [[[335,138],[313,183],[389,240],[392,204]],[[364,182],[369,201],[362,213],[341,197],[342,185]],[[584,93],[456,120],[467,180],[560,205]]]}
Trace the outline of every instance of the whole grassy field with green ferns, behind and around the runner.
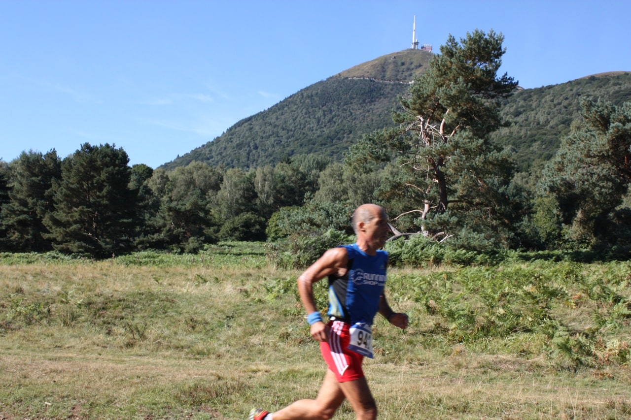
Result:
{"label": "whole grassy field with green ferns, behind and around the runner", "polygon": [[[0,419],[245,419],[314,397],[298,274],[253,243],[0,255]],[[375,324],[380,418],[631,417],[631,264],[392,269],[387,288],[411,322]]]}

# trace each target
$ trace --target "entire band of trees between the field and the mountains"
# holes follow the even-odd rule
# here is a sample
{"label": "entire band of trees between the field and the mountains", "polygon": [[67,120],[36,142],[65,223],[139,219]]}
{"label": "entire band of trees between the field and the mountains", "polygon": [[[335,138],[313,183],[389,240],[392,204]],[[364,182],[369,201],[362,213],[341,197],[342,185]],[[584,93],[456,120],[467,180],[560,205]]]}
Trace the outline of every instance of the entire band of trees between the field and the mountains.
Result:
{"label": "entire band of trees between the field and the mountains", "polygon": [[492,141],[517,82],[497,75],[502,34],[449,37],[399,97],[394,124],[342,161],[285,156],[253,169],[129,166],[115,145],[23,152],[0,165],[0,247],[109,257],[196,252],[219,240],[351,233],[363,202],[399,231],[472,250],[628,247],[631,103],[581,100],[557,155],[528,178]]}

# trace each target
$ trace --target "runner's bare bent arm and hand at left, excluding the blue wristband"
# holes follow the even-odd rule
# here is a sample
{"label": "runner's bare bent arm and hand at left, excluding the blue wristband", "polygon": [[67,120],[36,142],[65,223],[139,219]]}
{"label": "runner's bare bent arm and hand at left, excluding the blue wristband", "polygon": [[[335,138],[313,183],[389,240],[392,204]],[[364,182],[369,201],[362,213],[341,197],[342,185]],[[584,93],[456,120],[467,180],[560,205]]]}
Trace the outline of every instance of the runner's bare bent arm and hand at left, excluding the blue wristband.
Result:
{"label": "runner's bare bent arm and hand at left, excluding the blue wristband", "polygon": [[[340,274],[341,271],[346,270],[346,265],[348,265],[346,249],[331,248],[298,277],[298,294],[307,315],[318,311],[317,306],[315,306],[314,283],[329,276],[329,274]],[[327,339],[325,327],[324,322],[315,322],[311,325],[311,336],[317,341],[325,341]]]}

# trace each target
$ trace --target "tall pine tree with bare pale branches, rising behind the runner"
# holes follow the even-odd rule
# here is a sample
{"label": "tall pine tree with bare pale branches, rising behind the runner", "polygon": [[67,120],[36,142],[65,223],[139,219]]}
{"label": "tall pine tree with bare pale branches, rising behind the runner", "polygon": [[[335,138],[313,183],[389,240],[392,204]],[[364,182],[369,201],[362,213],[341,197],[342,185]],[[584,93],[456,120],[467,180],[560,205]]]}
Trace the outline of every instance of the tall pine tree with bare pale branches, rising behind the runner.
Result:
{"label": "tall pine tree with bare pale branches, rising behind the runner", "polygon": [[[457,42],[451,35],[417,76],[394,112],[396,127],[375,131],[351,149],[347,161],[396,161],[380,194],[418,227],[437,238],[456,231],[495,230],[508,225],[510,156],[494,148],[488,134],[500,126],[500,100],[517,82],[502,64],[503,35],[476,30]],[[442,235],[442,236],[440,236]],[[489,241],[498,235],[489,232]]]}

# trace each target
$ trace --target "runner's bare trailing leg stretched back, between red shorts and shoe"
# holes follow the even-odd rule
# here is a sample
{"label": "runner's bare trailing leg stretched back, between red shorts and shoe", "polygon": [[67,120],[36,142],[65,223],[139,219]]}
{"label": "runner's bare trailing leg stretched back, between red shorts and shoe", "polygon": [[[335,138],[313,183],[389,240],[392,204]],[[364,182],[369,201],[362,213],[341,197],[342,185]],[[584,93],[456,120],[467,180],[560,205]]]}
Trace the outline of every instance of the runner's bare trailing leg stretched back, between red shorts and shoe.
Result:
{"label": "runner's bare trailing leg stretched back, between red shorts and shoe", "polygon": [[315,400],[298,400],[284,409],[274,412],[274,420],[330,419],[344,401],[345,394],[340,385],[335,374],[327,369],[324,382]]}

